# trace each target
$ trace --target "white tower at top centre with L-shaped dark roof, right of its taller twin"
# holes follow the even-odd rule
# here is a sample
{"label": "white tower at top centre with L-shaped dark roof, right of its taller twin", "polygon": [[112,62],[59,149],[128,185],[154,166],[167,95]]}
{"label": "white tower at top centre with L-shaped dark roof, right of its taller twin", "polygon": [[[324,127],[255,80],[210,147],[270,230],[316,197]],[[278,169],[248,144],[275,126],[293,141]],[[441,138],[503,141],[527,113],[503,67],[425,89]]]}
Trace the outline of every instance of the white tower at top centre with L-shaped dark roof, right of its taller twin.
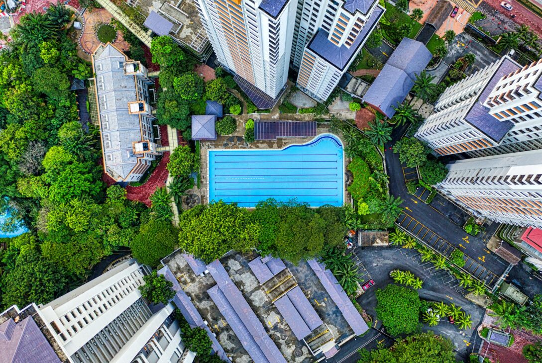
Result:
{"label": "white tower at top centre with L-shaped dark roof, right of its taller twin", "polygon": [[384,11],[377,0],[300,0],[292,51],[298,87],[325,101]]}

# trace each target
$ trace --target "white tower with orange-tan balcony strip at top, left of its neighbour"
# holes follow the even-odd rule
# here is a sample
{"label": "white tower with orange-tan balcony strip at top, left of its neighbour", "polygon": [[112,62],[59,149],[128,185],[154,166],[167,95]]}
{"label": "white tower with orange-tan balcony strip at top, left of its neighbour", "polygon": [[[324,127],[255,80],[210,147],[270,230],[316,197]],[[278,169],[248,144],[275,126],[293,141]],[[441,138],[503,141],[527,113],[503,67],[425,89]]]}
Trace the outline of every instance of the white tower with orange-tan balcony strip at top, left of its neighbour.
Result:
{"label": "white tower with orange-tan balcony strip at top, left of its neighbour", "polygon": [[197,0],[218,62],[259,108],[285,89],[297,0]]}

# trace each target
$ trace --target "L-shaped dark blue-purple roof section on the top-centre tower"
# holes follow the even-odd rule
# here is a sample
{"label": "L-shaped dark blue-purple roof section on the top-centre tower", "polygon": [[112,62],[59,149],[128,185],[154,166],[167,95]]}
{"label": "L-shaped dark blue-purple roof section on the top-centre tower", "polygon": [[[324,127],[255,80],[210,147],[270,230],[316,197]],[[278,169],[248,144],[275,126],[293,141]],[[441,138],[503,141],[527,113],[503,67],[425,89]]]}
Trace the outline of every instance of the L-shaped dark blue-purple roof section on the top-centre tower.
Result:
{"label": "L-shaped dark blue-purple roof section on the top-centre tower", "polygon": [[340,47],[336,46],[328,40],[327,37],[329,36],[329,33],[324,29],[320,29],[318,30],[318,33],[314,35],[311,42],[308,43],[307,48],[325,59],[332,66],[343,70],[352,57],[358,53],[358,50],[365,42],[365,39],[376,27],[376,24],[383,14],[384,9],[378,5],[350,47],[346,47],[344,44]]}

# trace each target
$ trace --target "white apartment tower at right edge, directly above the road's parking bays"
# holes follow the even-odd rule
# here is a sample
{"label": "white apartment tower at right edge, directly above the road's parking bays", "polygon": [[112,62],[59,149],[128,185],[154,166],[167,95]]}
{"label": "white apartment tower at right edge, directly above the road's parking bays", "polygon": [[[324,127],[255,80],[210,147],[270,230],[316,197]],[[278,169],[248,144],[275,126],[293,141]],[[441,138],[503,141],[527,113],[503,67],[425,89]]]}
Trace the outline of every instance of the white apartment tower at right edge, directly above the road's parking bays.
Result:
{"label": "white apartment tower at right edge, directly above the road's parking bays", "polygon": [[480,217],[542,228],[542,150],[456,161],[437,188]]}

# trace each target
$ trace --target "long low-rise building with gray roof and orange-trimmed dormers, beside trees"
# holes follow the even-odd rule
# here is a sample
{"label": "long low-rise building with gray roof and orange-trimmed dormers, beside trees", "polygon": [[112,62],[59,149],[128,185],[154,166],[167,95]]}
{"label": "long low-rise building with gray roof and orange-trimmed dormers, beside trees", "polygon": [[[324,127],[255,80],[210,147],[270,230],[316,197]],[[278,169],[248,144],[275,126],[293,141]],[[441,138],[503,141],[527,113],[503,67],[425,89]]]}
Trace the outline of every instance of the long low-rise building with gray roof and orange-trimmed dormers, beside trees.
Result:
{"label": "long low-rise building with gray roof and orange-trimmed dormers, beside trees", "polygon": [[147,69],[112,44],[92,55],[104,170],[117,182],[137,182],[156,159]]}

